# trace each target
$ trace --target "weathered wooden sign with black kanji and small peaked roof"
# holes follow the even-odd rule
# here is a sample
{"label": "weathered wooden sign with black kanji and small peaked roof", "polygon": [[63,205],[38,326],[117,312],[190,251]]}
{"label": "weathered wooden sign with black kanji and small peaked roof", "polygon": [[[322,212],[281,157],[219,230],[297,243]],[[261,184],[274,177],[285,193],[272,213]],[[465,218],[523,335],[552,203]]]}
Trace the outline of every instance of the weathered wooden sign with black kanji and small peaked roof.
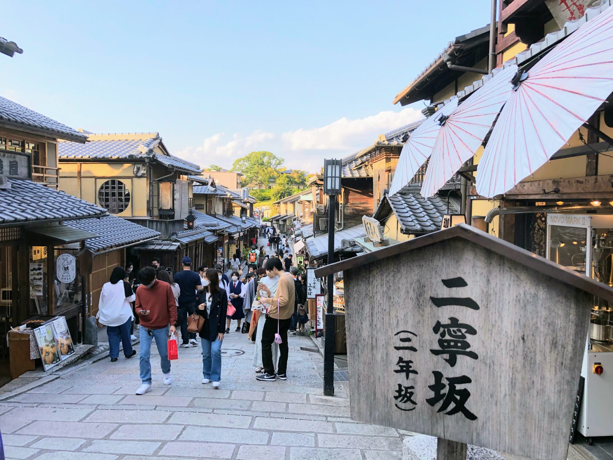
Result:
{"label": "weathered wooden sign with black kanji and small peaked roof", "polygon": [[340,271],[352,419],[566,458],[593,296],[613,289],[466,224],[315,274]]}

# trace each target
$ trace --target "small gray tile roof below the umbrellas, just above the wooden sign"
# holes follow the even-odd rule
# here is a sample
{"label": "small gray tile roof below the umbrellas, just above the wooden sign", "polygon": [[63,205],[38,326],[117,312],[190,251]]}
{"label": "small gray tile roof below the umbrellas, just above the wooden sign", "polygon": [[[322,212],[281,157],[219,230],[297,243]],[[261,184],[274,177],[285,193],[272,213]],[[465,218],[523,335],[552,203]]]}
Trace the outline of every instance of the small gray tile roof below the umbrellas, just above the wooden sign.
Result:
{"label": "small gray tile roof below the umbrellas, just above the wooden sign", "polygon": [[392,197],[384,196],[375,210],[375,218],[384,218],[384,210],[389,205],[403,233],[427,233],[441,229],[443,215],[459,212],[454,202],[449,202],[447,212],[446,199],[438,195],[424,198],[419,194],[419,190],[419,187],[406,186]]}

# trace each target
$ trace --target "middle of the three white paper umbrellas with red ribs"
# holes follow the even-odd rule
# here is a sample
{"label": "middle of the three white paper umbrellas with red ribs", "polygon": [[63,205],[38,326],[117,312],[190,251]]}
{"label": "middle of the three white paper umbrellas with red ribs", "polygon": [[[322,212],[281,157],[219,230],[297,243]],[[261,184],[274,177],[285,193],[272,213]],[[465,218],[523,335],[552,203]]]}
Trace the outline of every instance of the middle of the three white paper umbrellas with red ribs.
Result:
{"label": "middle of the three white paper umbrellas with red ribs", "polygon": [[516,72],[516,65],[501,69],[444,120],[425,173],[422,196],[427,198],[437,193],[474,155],[509,98],[513,89],[509,79]]}

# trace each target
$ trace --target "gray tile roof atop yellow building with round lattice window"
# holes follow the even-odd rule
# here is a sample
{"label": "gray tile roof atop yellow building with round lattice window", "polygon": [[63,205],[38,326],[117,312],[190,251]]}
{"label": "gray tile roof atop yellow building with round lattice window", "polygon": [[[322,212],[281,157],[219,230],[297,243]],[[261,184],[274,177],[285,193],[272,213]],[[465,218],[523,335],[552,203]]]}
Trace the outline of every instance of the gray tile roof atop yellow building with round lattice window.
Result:
{"label": "gray tile roof atop yellow building with round lattice window", "polygon": [[[156,133],[153,133],[156,134]],[[58,155],[60,159],[145,159],[151,158],[167,167],[174,167],[180,171],[200,173],[202,168],[194,163],[173,155],[154,153],[153,149],[162,142],[158,135],[143,133],[141,139],[134,139],[134,134],[126,135],[129,139],[96,139],[86,144],[75,142],[60,142]]]}

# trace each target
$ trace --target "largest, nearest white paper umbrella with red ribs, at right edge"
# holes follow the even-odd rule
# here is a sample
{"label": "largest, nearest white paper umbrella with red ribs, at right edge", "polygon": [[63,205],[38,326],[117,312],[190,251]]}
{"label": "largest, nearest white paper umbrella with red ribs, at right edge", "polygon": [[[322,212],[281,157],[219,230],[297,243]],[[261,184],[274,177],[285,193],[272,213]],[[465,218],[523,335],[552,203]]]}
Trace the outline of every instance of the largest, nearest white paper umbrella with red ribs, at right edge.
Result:
{"label": "largest, nearest white paper umbrella with red ribs, at right edge", "polygon": [[549,161],[611,94],[613,7],[520,74],[479,161],[482,196],[510,190]]}

